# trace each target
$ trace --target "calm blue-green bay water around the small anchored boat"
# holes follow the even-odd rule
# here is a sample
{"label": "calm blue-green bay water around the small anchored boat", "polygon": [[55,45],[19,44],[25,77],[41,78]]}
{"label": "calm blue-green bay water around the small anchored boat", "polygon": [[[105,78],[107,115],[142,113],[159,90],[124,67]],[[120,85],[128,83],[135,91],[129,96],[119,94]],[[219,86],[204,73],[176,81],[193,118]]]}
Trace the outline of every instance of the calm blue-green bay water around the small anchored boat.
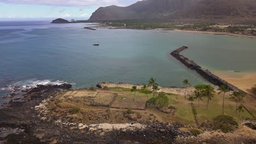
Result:
{"label": "calm blue-green bay water around the small anchored boat", "polygon": [[[158,30],[91,31],[83,28],[86,25],[0,22],[0,87],[69,82],[79,88],[102,81],[146,83],[150,77],[161,86],[182,86],[183,79],[192,85],[206,83],[170,56],[183,45],[189,46],[185,56],[208,69],[256,69],[253,38]],[[92,46],[97,42],[100,46]]]}

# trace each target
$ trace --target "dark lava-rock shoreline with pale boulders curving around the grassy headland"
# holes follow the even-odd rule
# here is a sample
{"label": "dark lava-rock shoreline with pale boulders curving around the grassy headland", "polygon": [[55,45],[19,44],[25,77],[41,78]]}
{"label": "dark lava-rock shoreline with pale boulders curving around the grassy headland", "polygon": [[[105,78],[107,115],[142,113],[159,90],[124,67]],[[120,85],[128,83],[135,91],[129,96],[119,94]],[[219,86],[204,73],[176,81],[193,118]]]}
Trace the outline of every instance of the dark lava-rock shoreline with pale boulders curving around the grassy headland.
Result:
{"label": "dark lava-rock shoreline with pale boulders curving around the grassy headland", "polygon": [[[120,86],[121,83],[111,85]],[[127,83],[122,85],[130,86]],[[182,127],[188,127],[179,123],[72,123],[46,109],[53,98],[70,88],[71,85],[68,84],[38,85],[23,94],[23,101],[10,101],[7,107],[2,107],[0,143],[226,143],[229,139],[235,143],[256,141],[252,136],[255,133],[249,128],[246,132],[242,131],[248,137],[239,137],[238,133],[242,133],[241,131],[235,134],[214,132],[214,135],[213,132],[207,132],[195,137],[189,131],[182,130]],[[234,141],[235,136],[237,141]]]}

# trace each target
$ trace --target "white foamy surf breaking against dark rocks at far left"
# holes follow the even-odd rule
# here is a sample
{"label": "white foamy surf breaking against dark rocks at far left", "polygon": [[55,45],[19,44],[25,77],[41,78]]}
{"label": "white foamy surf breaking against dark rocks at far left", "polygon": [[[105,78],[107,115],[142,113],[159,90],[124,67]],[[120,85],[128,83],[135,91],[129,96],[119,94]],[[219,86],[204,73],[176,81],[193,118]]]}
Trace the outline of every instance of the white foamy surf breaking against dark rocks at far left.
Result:
{"label": "white foamy surf breaking against dark rocks at far left", "polygon": [[67,83],[65,81],[60,80],[26,80],[26,81],[19,81],[13,83],[13,85],[5,86],[1,88],[2,91],[24,91],[26,89],[34,88],[37,85],[62,85],[63,83]]}

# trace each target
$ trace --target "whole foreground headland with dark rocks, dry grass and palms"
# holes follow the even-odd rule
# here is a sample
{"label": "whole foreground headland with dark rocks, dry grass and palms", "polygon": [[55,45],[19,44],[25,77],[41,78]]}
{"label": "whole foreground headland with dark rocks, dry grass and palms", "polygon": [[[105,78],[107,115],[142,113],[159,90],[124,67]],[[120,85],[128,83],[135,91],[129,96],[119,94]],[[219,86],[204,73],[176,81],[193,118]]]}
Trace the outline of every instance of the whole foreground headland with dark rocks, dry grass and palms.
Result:
{"label": "whole foreground headland with dark rocks, dry grass and palms", "polygon": [[[179,55],[184,49],[187,47],[174,53]],[[173,56],[177,58],[176,55]],[[210,82],[216,81],[222,80]],[[102,82],[97,88],[80,89],[72,89],[72,85],[64,83],[38,85],[25,91],[15,87],[14,92],[6,97],[11,99],[10,102],[0,109],[0,141],[256,142],[256,110],[255,103],[252,103],[255,97],[252,95],[236,99],[233,96],[235,92],[240,93],[240,89],[229,83],[214,83],[228,86],[221,90],[210,85],[190,87],[188,80],[183,81],[185,87],[181,88],[160,87],[156,82],[153,78],[146,81],[148,85]],[[238,95],[242,96],[242,93]],[[208,103],[207,98],[211,98]]]}

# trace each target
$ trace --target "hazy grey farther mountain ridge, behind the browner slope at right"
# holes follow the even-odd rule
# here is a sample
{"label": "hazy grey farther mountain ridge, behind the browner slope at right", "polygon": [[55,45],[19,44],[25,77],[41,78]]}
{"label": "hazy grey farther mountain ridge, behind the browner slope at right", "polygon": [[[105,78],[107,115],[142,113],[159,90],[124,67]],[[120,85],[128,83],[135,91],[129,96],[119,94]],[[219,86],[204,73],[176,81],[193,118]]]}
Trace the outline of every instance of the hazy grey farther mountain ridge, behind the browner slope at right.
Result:
{"label": "hazy grey farther mountain ridge, behind the browner slope at right", "polygon": [[175,12],[193,7],[201,0],[147,0],[128,7],[115,5],[98,8],[90,17],[91,21],[160,19]]}

